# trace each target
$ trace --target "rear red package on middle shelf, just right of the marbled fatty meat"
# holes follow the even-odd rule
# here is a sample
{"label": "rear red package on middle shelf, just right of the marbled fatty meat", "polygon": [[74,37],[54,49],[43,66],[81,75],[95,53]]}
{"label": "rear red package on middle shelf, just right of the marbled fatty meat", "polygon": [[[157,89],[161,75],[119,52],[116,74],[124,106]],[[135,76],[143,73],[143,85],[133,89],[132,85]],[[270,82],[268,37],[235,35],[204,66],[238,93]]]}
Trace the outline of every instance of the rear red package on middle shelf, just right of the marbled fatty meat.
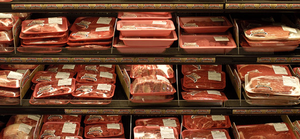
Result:
{"label": "rear red package on middle shelf, just right of the marbled fatty meat", "polygon": [[194,71],[222,71],[222,65],[181,65],[181,73]]}

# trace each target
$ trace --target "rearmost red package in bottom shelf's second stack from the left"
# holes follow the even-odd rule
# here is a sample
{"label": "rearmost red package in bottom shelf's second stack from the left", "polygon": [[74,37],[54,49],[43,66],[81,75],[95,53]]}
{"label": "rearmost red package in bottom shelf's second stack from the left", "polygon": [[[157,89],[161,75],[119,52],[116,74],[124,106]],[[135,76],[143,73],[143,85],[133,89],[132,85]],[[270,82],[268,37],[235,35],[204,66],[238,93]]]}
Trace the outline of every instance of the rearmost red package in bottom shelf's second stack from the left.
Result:
{"label": "rearmost red package in bottom shelf's second stack from the left", "polygon": [[46,122],[81,122],[81,115],[45,115]]}

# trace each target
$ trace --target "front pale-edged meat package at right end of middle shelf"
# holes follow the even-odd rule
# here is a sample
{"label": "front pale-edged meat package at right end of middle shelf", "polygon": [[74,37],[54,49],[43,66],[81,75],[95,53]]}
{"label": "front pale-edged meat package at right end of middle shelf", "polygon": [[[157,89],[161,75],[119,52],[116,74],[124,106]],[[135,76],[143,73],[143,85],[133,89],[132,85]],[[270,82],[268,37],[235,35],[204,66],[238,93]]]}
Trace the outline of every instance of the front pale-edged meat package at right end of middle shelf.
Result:
{"label": "front pale-edged meat package at right end of middle shelf", "polygon": [[250,93],[299,96],[299,79],[267,73],[245,75],[245,90]]}

